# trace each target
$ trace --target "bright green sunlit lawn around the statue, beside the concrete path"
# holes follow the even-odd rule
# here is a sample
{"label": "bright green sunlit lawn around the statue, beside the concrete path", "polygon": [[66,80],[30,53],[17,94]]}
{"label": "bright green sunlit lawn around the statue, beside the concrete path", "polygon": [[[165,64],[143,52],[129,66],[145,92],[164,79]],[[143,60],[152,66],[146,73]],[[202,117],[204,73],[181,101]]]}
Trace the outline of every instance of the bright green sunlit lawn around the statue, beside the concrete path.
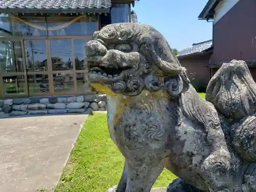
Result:
{"label": "bright green sunlit lawn around the statue, beside the concrete path", "polygon": [[[83,127],[55,192],[105,191],[121,177],[124,158],[110,138],[106,113],[89,115]],[[167,186],[175,178],[164,169],[154,187]]]}

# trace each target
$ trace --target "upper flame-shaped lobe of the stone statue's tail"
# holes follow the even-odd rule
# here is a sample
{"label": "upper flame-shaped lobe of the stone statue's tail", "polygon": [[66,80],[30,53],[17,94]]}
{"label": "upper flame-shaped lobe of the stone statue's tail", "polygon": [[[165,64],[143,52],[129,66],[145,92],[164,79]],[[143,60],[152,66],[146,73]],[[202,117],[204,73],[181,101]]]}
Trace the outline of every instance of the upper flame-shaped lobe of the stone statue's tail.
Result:
{"label": "upper flame-shaped lobe of the stone statue's tail", "polygon": [[256,112],[256,83],[244,61],[223,63],[210,79],[206,100],[227,118],[242,119]]}

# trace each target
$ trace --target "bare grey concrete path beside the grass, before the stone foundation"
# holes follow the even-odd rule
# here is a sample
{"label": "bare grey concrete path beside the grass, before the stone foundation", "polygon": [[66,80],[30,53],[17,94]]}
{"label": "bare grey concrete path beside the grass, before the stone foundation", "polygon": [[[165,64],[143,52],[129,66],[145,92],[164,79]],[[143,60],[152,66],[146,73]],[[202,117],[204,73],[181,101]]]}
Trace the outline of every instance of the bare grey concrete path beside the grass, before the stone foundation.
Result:
{"label": "bare grey concrete path beside the grass, before the stone foundation", "polygon": [[86,115],[0,119],[0,191],[52,189]]}

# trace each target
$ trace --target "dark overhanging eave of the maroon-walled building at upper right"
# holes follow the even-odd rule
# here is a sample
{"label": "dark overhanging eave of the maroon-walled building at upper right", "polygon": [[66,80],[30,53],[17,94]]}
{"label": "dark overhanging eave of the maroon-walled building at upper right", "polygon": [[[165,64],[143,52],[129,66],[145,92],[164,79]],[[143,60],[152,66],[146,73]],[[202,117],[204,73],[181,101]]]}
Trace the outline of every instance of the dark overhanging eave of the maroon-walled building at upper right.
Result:
{"label": "dark overhanging eave of the maroon-walled building at upper right", "polygon": [[200,13],[198,18],[200,19],[213,19],[214,18],[214,10],[217,7],[217,5],[221,2],[222,0],[208,0],[206,3],[203,11]]}

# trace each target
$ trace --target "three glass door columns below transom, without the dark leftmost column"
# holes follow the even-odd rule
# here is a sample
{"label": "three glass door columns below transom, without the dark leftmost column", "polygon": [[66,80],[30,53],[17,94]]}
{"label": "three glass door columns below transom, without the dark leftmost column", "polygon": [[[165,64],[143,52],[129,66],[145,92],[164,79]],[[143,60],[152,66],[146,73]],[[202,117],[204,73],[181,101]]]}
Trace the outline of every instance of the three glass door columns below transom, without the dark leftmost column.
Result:
{"label": "three glass door columns below transom, without the dark leftmost column", "polygon": [[85,62],[87,42],[88,39],[25,40],[28,95],[92,92]]}

